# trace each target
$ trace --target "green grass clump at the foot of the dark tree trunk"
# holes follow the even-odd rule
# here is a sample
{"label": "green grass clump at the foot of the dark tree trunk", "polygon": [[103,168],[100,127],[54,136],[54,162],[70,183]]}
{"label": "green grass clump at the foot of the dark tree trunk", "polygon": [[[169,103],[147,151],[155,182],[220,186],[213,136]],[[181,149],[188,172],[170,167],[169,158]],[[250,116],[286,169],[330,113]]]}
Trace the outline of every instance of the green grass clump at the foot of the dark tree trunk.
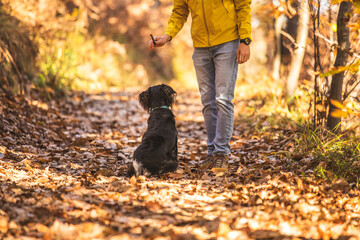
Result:
{"label": "green grass clump at the foot of the dark tree trunk", "polygon": [[297,135],[297,151],[312,160],[310,167],[321,178],[345,179],[360,187],[360,137],[347,131],[336,135],[323,128],[306,127]]}

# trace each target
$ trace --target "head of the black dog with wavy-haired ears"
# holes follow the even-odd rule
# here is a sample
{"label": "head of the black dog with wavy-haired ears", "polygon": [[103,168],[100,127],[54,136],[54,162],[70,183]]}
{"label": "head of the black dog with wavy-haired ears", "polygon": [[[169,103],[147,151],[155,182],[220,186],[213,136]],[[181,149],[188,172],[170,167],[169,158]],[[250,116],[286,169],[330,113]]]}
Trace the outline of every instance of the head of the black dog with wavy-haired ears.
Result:
{"label": "head of the black dog with wavy-haired ears", "polygon": [[149,112],[152,108],[169,106],[172,107],[176,97],[176,92],[168,85],[161,84],[149,87],[146,91],[139,94],[140,105]]}

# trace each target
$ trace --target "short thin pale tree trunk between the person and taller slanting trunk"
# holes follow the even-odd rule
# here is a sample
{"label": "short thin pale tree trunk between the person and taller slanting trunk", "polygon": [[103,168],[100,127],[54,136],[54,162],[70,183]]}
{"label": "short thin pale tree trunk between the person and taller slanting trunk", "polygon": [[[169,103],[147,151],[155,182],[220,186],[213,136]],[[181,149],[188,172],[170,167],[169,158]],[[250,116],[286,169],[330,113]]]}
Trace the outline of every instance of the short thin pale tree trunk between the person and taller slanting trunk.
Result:
{"label": "short thin pale tree trunk between the person and taller slanting trunk", "polygon": [[275,20],[275,54],[273,61],[273,71],[272,77],[274,80],[279,80],[280,78],[280,66],[281,66],[281,28],[285,21],[285,15],[280,15]]}

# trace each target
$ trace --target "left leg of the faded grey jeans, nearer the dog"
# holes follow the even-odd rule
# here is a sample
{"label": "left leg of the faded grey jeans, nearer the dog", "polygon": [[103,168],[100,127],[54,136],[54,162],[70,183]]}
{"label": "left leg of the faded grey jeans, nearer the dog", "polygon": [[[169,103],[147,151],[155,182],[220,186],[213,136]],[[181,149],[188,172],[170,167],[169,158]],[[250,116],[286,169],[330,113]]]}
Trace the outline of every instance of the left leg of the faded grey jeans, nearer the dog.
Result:
{"label": "left leg of the faded grey jeans, nearer the dog", "polygon": [[215,101],[215,67],[210,55],[210,48],[195,48],[193,62],[203,105],[203,115],[207,133],[208,154],[212,155],[217,125]]}

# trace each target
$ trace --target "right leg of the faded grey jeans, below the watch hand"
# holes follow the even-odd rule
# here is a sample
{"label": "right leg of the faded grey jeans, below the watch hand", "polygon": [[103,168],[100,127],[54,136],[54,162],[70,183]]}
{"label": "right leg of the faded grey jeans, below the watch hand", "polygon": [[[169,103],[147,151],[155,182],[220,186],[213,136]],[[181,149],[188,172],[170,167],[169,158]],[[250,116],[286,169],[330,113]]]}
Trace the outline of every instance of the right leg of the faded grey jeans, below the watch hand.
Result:
{"label": "right leg of the faded grey jeans, below the watch hand", "polygon": [[217,123],[213,140],[213,153],[230,154],[230,139],[234,125],[235,83],[238,72],[236,50],[239,40],[218,45],[213,51],[215,66],[215,101],[217,107]]}

